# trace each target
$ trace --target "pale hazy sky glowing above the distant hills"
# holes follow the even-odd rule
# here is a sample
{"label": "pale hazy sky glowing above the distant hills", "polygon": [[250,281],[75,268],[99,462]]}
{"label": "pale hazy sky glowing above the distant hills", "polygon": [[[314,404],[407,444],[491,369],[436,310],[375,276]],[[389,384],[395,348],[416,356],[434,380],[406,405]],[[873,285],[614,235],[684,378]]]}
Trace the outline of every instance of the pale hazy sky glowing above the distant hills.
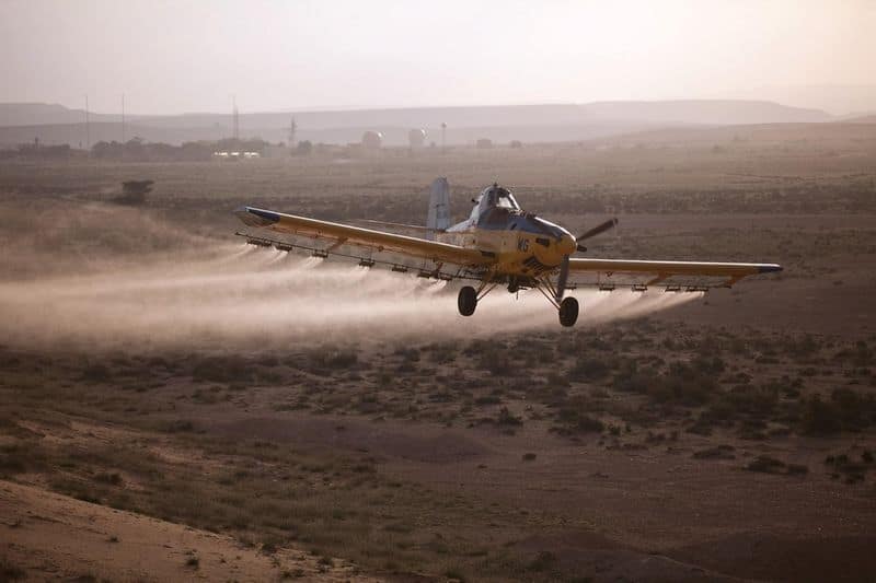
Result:
{"label": "pale hazy sky glowing above the distant hills", "polygon": [[0,0],[0,102],[132,113],[874,84],[871,1]]}

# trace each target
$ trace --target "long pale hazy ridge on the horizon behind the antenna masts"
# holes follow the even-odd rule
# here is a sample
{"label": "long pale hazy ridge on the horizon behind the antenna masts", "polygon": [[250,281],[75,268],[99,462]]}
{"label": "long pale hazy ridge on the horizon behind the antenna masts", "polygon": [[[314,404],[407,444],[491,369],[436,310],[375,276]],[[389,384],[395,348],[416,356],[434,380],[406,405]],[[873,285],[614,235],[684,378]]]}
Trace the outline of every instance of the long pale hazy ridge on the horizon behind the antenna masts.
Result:
{"label": "long pale hazy ridge on the horizon behind the antenna masts", "polygon": [[[829,121],[818,109],[787,107],[771,102],[690,100],[662,102],[596,102],[472,107],[415,107],[341,112],[268,112],[240,114],[244,137],[278,142],[288,139],[295,116],[299,140],[326,143],[357,142],[365,130],[384,133],[391,145],[407,143],[411,128],[425,128],[427,141],[440,142],[447,124],[448,143],[469,143],[479,138],[510,140],[575,141],[667,126],[736,125],[765,123]],[[119,116],[90,114],[91,142],[119,140]],[[0,104],[0,145],[32,142],[85,141],[84,112],[57,104]],[[181,143],[216,140],[231,135],[230,114],[182,114],[175,116],[130,115],[126,136],[147,141]]]}

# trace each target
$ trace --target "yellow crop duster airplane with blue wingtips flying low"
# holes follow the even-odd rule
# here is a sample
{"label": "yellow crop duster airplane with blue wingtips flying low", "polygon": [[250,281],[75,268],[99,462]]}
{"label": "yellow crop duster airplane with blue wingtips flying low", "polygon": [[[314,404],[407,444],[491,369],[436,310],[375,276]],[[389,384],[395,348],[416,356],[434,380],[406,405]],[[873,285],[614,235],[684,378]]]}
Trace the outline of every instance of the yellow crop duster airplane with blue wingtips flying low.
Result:
{"label": "yellow crop duster airplane with blue wingtips flying low", "polygon": [[[376,263],[390,265],[393,271],[414,268],[424,278],[477,281],[476,288],[464,285],[459,291],[459,313],[463,316],[474,314],[477,302],[499,284],[507,285],[511,293],[527,288],[541,291],[560,312],[560,323],[573,326],[578,319],[578,301],[564,294],[579,285],[596,285],[603,291],[616,287],[645,291],[648,285],[661,285],[666,291],[694,292],[728,288],[747,276],[782,270],[775,264],[572,257],[587,250],[584,241],[612,229],[618,220],[611,219],[576,237],[562,226],[523,211],[514,195],[497,184],[485,188],[472,202],[471,215],[451,226],[450,187],[446,178],[437,178],[431,184],[427,224],[413,228],[425,231],[427,238],[253,207],[234,212],[260,233],[283,237],[237,233],[255,245],[281,250],[301,248],[318,257],[335,254],[359,259],[359,265],[366,267]],[[346,250],[349,248],[358,250]],[[385,258],[376,259],[374,254]],[[418,265],[407,265],[412,260]],[[586,281],[578,282],[577,277]]]}

